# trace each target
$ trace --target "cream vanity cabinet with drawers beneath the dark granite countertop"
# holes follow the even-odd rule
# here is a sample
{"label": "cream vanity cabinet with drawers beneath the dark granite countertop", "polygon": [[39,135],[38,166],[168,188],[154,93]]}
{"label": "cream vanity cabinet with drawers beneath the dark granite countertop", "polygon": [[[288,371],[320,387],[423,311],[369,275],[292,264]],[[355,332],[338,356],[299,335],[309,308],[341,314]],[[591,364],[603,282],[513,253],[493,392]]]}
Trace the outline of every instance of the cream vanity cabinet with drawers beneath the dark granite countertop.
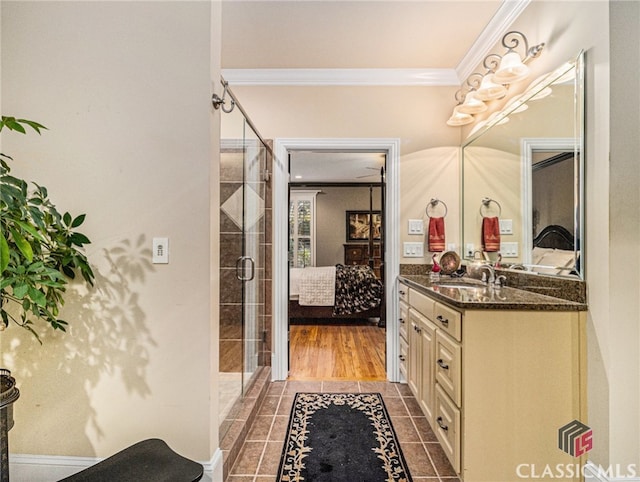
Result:
{"label": "cream vanity cabinet with drawers beneath the dark granite countertop", "polygon": [[407,293],[407,382],[461,480],[584,462],[558,443],[561,427],[586,423],[584,311],[459,308]]}

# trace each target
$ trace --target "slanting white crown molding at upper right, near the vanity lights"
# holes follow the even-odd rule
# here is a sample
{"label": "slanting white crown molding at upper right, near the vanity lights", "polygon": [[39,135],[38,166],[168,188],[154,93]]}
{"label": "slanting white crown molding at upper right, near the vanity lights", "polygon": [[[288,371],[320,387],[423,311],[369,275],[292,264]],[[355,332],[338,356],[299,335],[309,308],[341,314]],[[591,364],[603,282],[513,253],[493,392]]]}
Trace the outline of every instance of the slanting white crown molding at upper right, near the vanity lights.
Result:
{"label": "slanting white crown molding at upper right, near the vanity lights", "polygon": [[507,33],[513,22],[520,16],[531,0],[504,0],[482,33],[458,63],[455,71],[460,84],[482,63],[489,51]]}

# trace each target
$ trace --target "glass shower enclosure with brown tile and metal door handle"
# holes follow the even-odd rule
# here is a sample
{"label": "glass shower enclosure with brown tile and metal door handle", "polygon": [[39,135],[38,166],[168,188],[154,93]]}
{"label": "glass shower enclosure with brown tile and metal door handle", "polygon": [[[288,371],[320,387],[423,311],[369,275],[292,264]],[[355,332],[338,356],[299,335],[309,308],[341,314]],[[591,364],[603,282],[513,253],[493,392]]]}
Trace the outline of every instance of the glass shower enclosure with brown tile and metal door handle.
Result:
{"label": "glass shower enclosure with brown tile and metal door handle", "polygon": [[[234,101],[221,114],[220,438],[265,365],[266,171],[270,150]],[[229,111],[230,110],[230,111]]]}

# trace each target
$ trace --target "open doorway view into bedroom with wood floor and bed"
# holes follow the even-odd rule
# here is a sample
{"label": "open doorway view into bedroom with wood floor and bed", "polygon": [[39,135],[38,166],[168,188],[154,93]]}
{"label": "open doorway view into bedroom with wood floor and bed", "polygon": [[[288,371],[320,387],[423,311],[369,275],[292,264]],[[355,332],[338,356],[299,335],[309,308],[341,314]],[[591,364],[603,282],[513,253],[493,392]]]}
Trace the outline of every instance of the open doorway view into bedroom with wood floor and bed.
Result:
{"label": "open doorway view into bedroom with wood floor and bed", "polygon": [[386,380],[386,152],[288,162],[289,379]]}

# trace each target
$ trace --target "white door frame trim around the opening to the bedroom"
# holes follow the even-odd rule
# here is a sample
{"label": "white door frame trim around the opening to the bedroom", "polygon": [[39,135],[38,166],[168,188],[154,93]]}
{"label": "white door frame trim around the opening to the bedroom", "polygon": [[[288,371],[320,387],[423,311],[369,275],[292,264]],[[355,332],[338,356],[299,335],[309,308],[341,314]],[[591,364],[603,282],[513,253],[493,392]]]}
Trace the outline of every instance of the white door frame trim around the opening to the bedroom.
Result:
{"label": "white door frame trim around the opening to the bedroom", "polygon": [[288,216],[288,153],[290,151],[352,151],[383,152],[387,159],[386,185],[384,188],[385,218],[387,242],[385,243],[384,278],[388,280],[384,298],[385,319],[387,320],[386,342],[386,377],[389,381],[399,378],[397,357],[398,326],[397,320],[397,287],[395,280],[398,274],[398,139],[276,139],[274,145],[274,209],[273,209],[273,360],[272,379],[286,380],[289,371],[288,340],[288,276],[289,276],[289,216]]}

